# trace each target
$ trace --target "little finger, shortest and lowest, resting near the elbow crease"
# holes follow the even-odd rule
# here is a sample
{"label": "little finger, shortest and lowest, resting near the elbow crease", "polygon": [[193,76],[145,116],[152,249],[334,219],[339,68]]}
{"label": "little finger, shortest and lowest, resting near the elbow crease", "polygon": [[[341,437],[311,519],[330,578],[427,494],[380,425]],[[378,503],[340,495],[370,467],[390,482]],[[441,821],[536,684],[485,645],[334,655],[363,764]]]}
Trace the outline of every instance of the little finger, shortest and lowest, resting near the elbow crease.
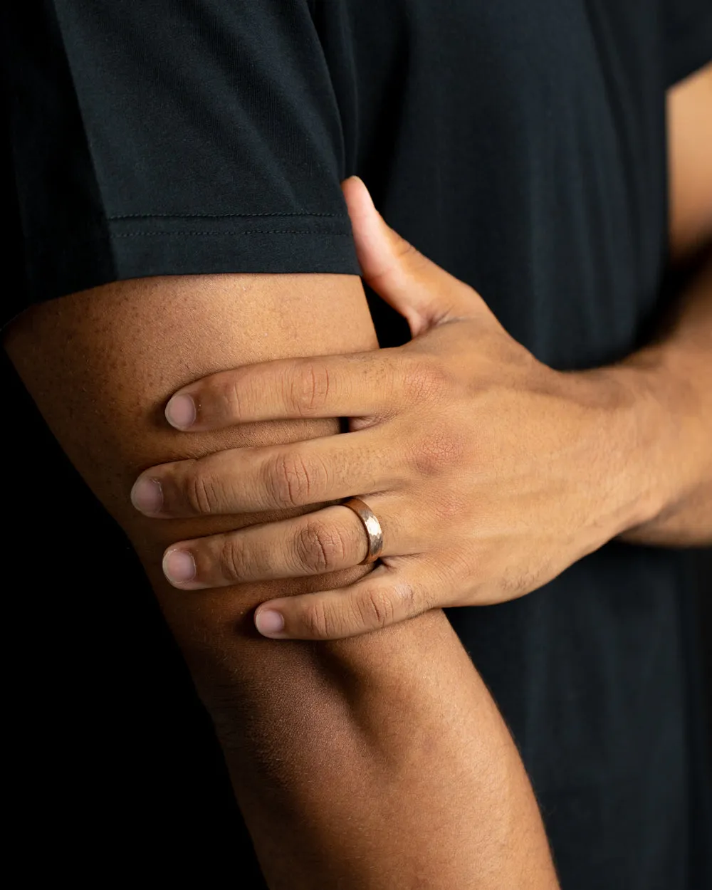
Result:
{"label": "little finger, shortest and lowest, resting near the elbow crease", "polygon": [[368,634],[454,601],[442,573],[422,556],[399,557],[340,590],[284,597],[255,611],[255,626],[273,639],[338,640]]}

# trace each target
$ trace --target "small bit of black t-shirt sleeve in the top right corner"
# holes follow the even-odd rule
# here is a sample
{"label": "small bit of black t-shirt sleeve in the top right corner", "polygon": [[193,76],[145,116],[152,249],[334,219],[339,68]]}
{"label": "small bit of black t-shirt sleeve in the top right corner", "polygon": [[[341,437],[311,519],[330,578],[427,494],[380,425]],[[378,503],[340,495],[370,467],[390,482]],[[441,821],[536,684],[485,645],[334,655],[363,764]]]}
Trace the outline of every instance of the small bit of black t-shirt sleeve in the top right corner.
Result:
{"label": "small bit of black t-shirt sleeve in the top right corner", "polygon": [[712,2],[665,0],[665,63],[672,86],[712,61]]}

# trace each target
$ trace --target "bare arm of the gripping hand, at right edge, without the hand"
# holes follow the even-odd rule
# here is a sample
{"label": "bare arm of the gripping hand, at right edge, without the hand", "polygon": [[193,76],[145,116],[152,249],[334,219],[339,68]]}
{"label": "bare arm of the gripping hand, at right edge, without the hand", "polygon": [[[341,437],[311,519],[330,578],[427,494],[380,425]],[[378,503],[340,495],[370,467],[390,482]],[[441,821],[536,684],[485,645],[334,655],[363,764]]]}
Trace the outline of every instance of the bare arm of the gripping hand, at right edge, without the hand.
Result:
{"label": "bare arm of the gripping hand, at right edge, without the hand", "polygon": [[659,341],[616,368],[648,442],[634,472],[658,505],[624,538],[704,545],[712,544],[712,64],[670,91],[667,110],[670,252],[697,271]]}

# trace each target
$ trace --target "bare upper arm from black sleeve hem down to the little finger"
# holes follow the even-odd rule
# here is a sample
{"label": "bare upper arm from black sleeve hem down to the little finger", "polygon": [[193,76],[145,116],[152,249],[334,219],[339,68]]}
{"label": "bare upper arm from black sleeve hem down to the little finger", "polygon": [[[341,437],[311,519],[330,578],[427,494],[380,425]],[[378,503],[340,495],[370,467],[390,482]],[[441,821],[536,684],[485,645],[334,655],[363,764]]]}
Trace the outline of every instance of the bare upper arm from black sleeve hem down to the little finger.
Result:
{"label": "bare upper arm from black sleeve hem down to the little finger", "polygon": [[[189,656],[193,642],[234,624],[247,607],[290,586],[318,583],[241,586],[208,593],[198,604],[163,578],[164,548],[257,517],[151,520],[135,511],[129,494],[151,465],[335,432],[336,420],[300,420],[177,433],[163,412],[176,389],[214,371],[375,348],[358,277],[234,274],[116,282],[30,308],[12,322],[4,345],[61,447],[134,543]],[[47,495],[36,492],[36,502]],[[276,516],[259,517],[265,518]]]}

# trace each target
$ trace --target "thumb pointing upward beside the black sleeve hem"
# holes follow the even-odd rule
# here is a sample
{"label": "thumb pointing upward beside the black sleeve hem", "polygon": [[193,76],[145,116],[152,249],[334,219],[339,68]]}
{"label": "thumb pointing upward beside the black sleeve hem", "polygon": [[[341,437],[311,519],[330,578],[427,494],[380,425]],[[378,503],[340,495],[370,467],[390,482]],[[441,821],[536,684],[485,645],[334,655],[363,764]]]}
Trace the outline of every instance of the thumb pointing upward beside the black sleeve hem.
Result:
{"label": "thumb pointing upward beside the black sleeve hem", "polygon": [[442,321],[476,312],[481,297],[385,223],[365,183],[342,183],[363,279],[408,321],[413,336]]}

